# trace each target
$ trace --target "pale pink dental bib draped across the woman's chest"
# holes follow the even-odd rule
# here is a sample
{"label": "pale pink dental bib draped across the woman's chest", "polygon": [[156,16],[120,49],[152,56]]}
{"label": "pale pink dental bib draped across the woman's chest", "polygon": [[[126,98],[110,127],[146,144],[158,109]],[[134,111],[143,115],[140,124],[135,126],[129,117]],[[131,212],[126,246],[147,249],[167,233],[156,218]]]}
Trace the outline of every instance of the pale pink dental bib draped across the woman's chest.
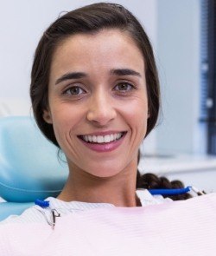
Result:
{"label": "pale pink dental bib draped across the woman's chest", "polygon": [[147,207],[111,207],[45,223],[0,226],[0,255],[213,256],[216,194]]}

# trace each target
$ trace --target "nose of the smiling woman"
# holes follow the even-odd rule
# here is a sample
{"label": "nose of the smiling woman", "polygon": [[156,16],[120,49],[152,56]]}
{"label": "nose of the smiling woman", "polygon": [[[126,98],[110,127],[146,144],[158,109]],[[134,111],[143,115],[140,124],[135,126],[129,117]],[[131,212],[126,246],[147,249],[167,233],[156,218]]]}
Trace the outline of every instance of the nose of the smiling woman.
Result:
{"label": "nose of the smiling woman", "polygon": [[111,99],[108,92],[100,91],[92,95],[87,112],[88,121],[92,121],[99,126],[106,126],[116,116],[113,99]]}

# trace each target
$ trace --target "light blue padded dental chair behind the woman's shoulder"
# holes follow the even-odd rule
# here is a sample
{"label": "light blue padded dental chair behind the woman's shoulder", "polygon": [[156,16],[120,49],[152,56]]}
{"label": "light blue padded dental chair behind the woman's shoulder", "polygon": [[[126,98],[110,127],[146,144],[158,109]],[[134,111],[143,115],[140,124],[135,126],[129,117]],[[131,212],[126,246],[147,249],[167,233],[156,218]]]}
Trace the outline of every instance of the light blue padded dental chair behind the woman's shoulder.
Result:
{"label": "light blue padded dental chair behind the woman's shoulder", "polygon": [[56,197],[67,180],[65,156],[29,116],[0,118],[0,221],[19,215],[36,199]]}

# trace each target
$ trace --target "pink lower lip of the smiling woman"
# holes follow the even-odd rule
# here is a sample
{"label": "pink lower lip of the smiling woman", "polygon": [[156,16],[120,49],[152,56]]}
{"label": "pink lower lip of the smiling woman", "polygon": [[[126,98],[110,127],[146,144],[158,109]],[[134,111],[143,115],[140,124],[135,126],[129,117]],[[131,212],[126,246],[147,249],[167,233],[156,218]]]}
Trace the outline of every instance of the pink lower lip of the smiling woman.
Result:
{"label": "pink lower lip of the smiling woman", "polygon": [[90,148],[93,151],[97,151],[97,152],[110,152],[112,150],[115,150],[116,148],[118,148],[122,144],[122,142],[124,141],[125,135],[126,135],[126,133],[118,141],[111,141],[111,142],[108,142],[108,143],[101,143],[101,144],[99,144],[99,143],[88,143],[86,141],[83,141],[80,138],[79,138],[79,140],[82,141],[83,144],[87,148]]}

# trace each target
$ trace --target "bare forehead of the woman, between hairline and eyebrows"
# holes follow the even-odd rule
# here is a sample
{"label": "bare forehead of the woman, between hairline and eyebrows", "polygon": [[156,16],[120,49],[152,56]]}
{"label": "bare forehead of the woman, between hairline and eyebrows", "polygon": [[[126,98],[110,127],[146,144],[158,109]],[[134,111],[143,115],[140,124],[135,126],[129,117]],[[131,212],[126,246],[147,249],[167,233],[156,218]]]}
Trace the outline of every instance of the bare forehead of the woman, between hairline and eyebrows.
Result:
{"label": "bare forehead of the woman, between hairline and eyebrows", "polygon": [[76,69],[91,73],[118,68],[144,72],[143,54],[126,32],[100,30],[69,36],[61,42],[54,52],[51,78]]}

